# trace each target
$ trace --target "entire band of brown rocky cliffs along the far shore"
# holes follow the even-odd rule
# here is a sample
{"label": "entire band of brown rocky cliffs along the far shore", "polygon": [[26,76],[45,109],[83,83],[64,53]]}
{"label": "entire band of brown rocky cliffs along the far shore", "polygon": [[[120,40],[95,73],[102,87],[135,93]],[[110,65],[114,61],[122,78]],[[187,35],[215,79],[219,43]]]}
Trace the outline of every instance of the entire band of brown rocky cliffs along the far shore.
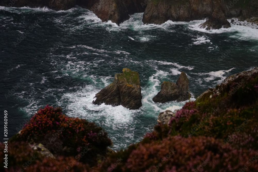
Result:
{"label": "entire band of brown rocky cliffs along the far shore", "polygon": [[[120,24],[130,18],[130,14],[144,12],[144,24],[162,24],[172,21],[207,21],[201,28],[228,28],[230,23],[225,19],[233,17],[241,20],[255,20],[258,17],[256,0],[39,0],[10,1],[0,0],[6,7],[43,7],[53,10],[68,10],[75,5],[93,11],[103,22],[111,20]],[[253,18],[253,19],[251,19]]]}

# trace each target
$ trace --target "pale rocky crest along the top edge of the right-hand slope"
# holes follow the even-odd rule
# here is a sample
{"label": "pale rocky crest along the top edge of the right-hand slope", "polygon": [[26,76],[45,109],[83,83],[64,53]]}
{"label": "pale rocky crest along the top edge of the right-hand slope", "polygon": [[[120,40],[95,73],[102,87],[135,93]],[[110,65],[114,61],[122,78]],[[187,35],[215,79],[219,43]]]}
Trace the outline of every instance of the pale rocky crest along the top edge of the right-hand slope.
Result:
{"label": "pale rocky crest along the top edge of the right-hand slope", "polygon": [[205,99],[216,97],[224,93],[229,93],[229,95],[232,95],[237,89],[248,83],[250,79],[257,76],[258,67],[231,75],[225,78],[220,85],[216,86],[216,88],[209,88],[207,91],[202,93],[195,101],[201,102]]}

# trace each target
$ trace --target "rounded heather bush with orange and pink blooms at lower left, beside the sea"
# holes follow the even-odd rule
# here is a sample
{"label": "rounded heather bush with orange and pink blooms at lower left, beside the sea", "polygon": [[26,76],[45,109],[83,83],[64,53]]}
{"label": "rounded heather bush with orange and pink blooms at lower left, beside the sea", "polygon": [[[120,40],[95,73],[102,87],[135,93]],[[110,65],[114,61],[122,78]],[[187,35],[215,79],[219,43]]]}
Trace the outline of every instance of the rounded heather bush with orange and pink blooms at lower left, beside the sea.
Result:
{"label": "rounded heather bush with orange and pink blooms at lower left, beside the sea", "polygon": [[61,108],[48,105],[39,109],[12,140],[41,143],[54,155],[76,156],[87,150],[80,161],[92,164],[97,157],[106,156],[112,144],[107,133],[93,122],[70,118],[62,114]]}

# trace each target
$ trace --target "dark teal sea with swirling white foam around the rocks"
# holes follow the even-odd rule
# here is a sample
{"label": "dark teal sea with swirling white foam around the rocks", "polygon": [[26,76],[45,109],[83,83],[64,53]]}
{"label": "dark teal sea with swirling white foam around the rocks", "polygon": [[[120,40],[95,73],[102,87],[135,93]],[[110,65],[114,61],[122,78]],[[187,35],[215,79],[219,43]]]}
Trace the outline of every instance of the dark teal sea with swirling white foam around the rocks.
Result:
{"label": "dark teal sea with swirling white foam around the rocks", "polygon": [[[0,10],[0,121],[7,110],[9,138],[49,104],[95,122],[108,132],[112,149],[124,149],[153,130],[159,112],[186,103],[154,103],[163,81],[176,82],[185,72],[195,100],[225,77],[258,66],[255,24],[206,31],[198,28],[203,20],[145,25],[143,13],[118,26],[78,6]],[[123,68],[139,72],[142,107],[93,105]]]}

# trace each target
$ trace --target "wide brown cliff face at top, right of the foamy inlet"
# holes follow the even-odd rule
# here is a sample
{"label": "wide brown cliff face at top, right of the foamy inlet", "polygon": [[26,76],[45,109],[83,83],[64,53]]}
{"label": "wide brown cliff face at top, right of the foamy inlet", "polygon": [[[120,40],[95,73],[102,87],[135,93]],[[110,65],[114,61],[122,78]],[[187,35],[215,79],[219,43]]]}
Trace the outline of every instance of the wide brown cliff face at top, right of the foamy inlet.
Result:
{"label": "wide brown cliff face at top, right of the foamy inlet", "polygon": [[[235,2],[235,1],[234,1]],[[191,21],[211,17],[215,10],[225,17],[249,18],[257,15],[257,1],[239,0],[151,0],[144,12],[143,23],[162,24],[167,20]]]}

